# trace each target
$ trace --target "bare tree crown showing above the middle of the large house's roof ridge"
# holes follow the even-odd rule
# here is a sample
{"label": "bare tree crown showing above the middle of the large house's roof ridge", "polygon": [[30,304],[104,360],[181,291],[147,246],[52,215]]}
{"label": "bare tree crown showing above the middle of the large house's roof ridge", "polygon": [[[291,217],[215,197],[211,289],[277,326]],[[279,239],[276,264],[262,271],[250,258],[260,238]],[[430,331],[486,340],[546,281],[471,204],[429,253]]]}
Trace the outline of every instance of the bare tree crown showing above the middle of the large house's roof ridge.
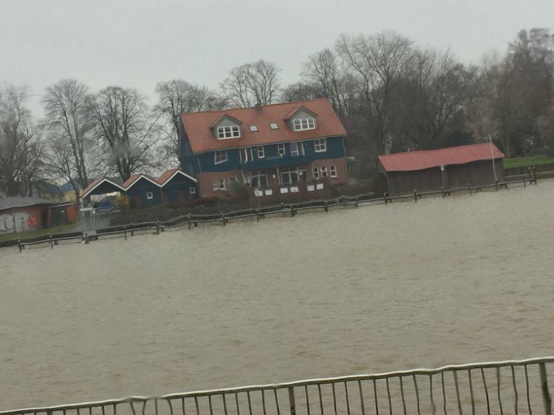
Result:
{"label": "bare tree crown showing above the middle of the large house's roof ridge", "polygon": [[278,98],[280,69],[272,62],[259,60],[231,69],[221,84],[224,98],[233,107],[253,107],[258,102],[271,104]]}

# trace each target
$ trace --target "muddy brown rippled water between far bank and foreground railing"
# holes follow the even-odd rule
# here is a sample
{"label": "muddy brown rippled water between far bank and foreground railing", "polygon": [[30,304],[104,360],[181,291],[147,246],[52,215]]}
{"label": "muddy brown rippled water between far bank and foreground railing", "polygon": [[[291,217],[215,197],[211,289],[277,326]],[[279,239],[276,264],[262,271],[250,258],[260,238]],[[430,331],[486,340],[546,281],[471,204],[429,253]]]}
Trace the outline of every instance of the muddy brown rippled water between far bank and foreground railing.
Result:
{"label": "muddy brown rippled water between far bank and foreground railing", "polygon": [[554,181],[0,251],[0,409],[548,356]]}

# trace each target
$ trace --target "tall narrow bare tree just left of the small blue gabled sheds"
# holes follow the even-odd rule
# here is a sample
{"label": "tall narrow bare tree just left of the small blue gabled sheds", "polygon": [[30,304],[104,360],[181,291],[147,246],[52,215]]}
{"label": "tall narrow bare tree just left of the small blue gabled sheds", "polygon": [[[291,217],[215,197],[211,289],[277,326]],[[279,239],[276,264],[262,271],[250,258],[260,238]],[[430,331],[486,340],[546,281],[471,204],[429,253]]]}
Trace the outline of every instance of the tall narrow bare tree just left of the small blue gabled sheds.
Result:
{"label": "tall narrow bare tree just left of the small blue gabled sheds", "polygon": [[50,169],[79,190],[89,184],[93,159],[93,96],[77,80],[61,80],[46,88],[42,100]]}

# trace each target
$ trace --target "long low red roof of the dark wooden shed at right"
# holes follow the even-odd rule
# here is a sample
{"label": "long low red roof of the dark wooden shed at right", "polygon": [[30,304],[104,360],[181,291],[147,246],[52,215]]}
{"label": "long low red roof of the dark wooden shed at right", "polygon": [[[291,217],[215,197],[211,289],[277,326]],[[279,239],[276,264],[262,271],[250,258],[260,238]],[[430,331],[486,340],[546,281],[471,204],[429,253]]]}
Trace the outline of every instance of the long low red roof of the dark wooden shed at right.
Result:
{"label": "long low red roof of the dark wooden shed at right", "polygon": [[504,156],[497,146],[483,142],[438,150],[387,154],[379,156],[379,163],[387,172],[409,172],[431,167],[471,163],[472,161],[492,160],[493,155],[494,158],[503,158]]}

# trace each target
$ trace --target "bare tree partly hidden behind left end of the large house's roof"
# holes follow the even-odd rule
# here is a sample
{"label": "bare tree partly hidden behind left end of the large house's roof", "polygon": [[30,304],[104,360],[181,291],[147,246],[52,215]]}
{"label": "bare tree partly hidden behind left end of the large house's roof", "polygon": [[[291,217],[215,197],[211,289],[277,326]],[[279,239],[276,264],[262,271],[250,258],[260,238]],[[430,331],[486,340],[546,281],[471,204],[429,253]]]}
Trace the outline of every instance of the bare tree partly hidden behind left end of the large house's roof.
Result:
{"label": "bare tree partly hidden behind left end of the large house's roof", "polygon": [[168,156],[179,158],[179,123],[184,113],[217,109],[219,98],[206,86],[189,84],[184,80],[158,82],[156,92],[159,102],[155,111],[163,125],[164,149]]}

